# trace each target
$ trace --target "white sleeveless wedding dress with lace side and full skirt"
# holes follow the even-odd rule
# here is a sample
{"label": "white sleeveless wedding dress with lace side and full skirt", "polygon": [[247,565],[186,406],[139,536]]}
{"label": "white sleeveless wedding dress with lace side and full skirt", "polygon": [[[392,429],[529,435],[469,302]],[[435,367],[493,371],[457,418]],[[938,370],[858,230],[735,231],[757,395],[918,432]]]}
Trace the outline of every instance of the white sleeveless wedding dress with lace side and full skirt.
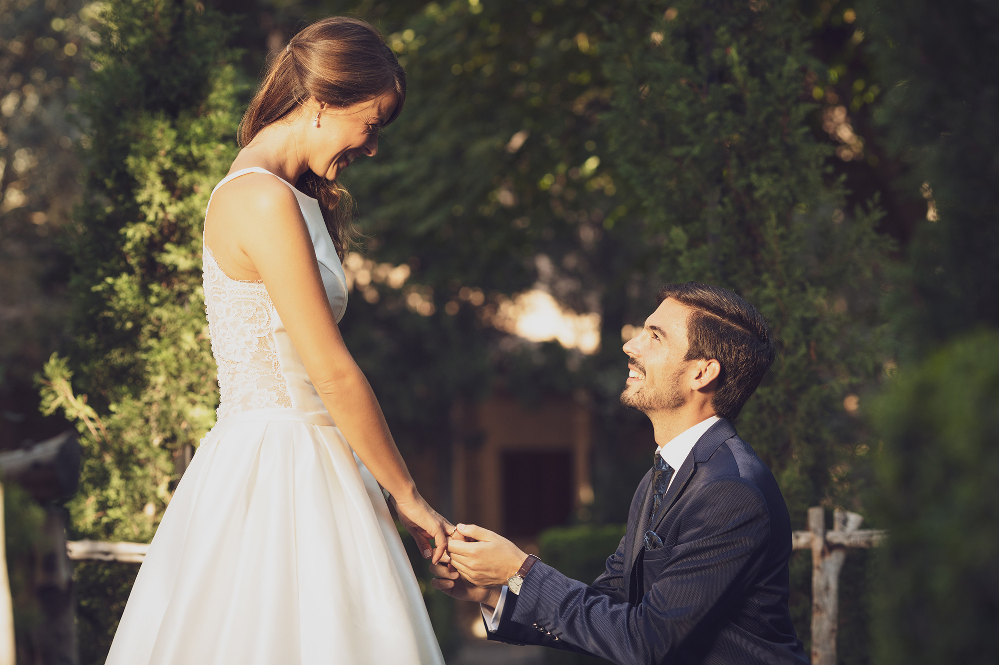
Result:
{"label": "white sleeveless wedding dress with lace side and full skirt", "polygon": [[[252,172],[269,173],[215,189]],[[344,269],[318,202],[292,190],[339,321]],[[107,665],[443,665],[381,488],[264,284],[228,278],[205,248],[204,285],[218,423],[163,516]]]}

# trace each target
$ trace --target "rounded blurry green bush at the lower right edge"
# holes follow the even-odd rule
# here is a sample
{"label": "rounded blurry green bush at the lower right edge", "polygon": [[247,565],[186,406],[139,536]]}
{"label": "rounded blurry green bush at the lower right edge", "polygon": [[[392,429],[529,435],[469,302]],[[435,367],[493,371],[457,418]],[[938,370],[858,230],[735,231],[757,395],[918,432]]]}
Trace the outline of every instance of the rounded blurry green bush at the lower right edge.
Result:
{"label": "rounded blurry green bush at the lower right edge", "polygon": [[999,658],[999,333],[960,338],[899,371],[870,409],[890,525],[878,662]]}

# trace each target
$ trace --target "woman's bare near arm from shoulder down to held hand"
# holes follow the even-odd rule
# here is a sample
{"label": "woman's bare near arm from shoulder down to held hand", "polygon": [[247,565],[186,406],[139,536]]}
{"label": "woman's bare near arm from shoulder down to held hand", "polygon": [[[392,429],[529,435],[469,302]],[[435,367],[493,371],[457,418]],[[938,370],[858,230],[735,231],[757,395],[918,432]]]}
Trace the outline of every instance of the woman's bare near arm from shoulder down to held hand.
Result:
{"label": "woman's bare near arm from shoulder down to held hand", "polygon": [[[415,523],[425,538],[435,539],[436,563],[444,554],[451,524],[421,497],[368,379],[344,344],[295,194],[272,176],[238,178],[216,194],[205,238],[230,277],[264,281],[323,403],[392,494],[411,532]],[[420,545],[426,556],[427,542]]]}

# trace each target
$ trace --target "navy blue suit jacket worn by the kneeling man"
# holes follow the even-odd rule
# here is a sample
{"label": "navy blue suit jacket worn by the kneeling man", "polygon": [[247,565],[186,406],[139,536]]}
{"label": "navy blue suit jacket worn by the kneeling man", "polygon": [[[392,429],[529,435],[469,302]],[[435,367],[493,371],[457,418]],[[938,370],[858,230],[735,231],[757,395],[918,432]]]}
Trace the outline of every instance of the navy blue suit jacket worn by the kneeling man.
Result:
{"label": "navy blue suit jacket worn by the kneeling man", "polygon": [[[647,473],[592,585],[544,563],[506,594],[490,639],[621,665],[807,663],[787,608],[791,523],[773,474],[721,418],[693,446],[656,524]],[[645,528],[663,546],[644,550]]]}

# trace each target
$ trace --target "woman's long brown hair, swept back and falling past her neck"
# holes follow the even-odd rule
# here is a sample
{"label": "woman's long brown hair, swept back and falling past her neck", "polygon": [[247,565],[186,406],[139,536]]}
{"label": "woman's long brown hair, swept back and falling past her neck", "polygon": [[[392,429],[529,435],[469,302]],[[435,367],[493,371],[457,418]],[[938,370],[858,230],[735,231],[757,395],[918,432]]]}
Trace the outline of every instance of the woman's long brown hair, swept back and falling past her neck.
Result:
{"label": "woman's long brown hair, swept back and falling past her neck", "polygon": [[[333,16],[308,26],[288,46],[271,55],[264,80],[240,123],[240,147],[315,97],[333,107],[348,107],[394,93],[396,119],[406,99],[406,73],[373,26]],[[306,171],[295,186],[319,201],[326,227],[343,259],[351,245],[353,202],[336,181]]]}

